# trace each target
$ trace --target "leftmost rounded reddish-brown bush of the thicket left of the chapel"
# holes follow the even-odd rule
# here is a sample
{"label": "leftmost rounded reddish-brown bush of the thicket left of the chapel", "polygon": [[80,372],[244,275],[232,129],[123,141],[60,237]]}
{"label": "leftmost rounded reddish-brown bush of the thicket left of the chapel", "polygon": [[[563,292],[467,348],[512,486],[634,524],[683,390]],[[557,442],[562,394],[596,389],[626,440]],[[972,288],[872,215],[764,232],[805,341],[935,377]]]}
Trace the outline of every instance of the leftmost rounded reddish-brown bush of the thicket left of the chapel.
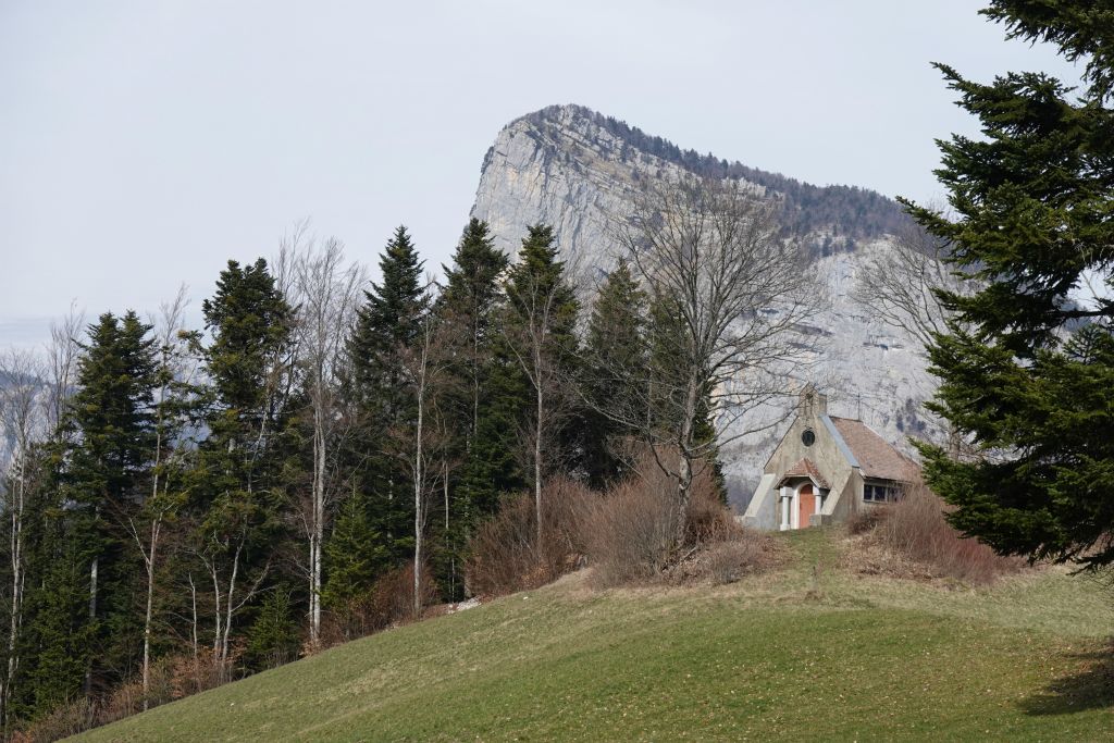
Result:
{"label": "leftmost rounded reddish-brown bush of the thicket left of the chapel", "polygon": [[502,596],[537,588],[575,570],[586,551],[586,524],[599,496],[587,486],[557,477],[541,491],[541,544],[537,544],[531,495],[507,499],[480,525],[466,565],[468,593]]}

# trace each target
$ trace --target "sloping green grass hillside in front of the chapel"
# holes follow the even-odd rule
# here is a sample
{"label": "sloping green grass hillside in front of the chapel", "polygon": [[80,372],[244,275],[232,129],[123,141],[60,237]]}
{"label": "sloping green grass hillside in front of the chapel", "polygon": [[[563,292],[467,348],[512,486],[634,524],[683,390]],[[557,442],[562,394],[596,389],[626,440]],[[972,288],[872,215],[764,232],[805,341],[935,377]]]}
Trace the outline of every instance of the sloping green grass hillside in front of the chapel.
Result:
{"label": "sloping green grass hillside in front of the chapel", "polygon": [[1114,600],[1086,578],[868,578],[832,567],[836,532],[782,538],[774,575],[596,593],[578,574],[81,740],[1110,740]]}

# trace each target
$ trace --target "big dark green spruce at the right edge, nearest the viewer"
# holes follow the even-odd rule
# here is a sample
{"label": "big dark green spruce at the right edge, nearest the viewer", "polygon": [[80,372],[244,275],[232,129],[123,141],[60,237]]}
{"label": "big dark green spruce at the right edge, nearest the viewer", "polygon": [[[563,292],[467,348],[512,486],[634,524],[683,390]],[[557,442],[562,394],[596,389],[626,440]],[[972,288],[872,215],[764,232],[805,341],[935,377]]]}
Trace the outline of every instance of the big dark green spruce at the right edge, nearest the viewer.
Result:
{"label": "big dark green spruce at the right edge, nearest the viewer", "polygon": [[983,136],[940,145],[955,221],[909,206],[981,287],[941,293],[957,315],[929,349],[941,380],[930,408],[976,456],[925,446],[925,475],[964,532],[1095,568],[1114,563],[1111,11],[995,0],[983,13],[1082,62],[1084,87],[1039,72],[978,84],[938,65]]}

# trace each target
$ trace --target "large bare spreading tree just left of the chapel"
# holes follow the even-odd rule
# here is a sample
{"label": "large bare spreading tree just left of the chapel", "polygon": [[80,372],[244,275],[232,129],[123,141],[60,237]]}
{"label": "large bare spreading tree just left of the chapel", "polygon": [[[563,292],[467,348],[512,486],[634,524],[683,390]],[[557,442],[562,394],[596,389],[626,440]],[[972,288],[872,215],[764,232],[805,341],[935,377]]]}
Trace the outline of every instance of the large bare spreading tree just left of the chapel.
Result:
{"label": "large bare spreading tree just left of the chapel", "polygon": [[[747,413],[786,394],[803,358],[788,336],[813,311],[815,281],[800,246],[778,235],[776,209],[734,182],[684,176],[647,190],[618,231],[666,319],[652,323],[654,369],[616,370],[635,392],[603,412],[639,431],[675,482],[677,542],[696,468],[776,423]],[[711,434],[701,432],[705,418]]]}

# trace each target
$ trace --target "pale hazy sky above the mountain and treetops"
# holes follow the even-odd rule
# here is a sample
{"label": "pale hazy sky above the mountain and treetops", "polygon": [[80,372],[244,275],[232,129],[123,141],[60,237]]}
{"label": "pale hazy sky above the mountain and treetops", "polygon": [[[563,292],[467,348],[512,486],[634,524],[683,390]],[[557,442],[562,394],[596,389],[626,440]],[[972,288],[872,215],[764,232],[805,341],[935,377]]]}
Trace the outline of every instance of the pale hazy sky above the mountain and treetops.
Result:
{"label": "pale hazy sky above the mountain and treetops", "polygon": [[295,221],[430,267],[512,118],[576,102],[683,148],[932,199],[974,133],[929,62],[1072,74],[959,0],[0,0],[0,346],[209,294]]}

